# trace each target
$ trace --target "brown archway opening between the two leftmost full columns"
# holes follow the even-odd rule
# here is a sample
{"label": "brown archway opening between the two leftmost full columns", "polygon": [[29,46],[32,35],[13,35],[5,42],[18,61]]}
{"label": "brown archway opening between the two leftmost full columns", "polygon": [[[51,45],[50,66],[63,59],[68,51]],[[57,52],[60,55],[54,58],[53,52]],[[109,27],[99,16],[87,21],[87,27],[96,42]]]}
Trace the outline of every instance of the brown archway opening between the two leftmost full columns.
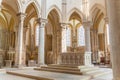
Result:
{"label": "brown archway opening between the two leftmost full columns", "polygon": [[34,2],[26,8],[24,22],[24,48],[27,66],[36,66],[38,62],[39,24],[38,14]]}

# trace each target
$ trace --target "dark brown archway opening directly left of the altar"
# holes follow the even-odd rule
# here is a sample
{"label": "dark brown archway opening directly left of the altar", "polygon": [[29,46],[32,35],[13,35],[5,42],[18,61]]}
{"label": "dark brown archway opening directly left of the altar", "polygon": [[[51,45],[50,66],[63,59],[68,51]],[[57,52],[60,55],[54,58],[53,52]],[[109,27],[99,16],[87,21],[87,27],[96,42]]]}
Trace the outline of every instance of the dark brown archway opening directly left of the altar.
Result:
{"label": "dark brown archway opening directly left of the altar", "polygon": [[48,24],[45,27],[45,53],[46,64],[56,64],[60,53],[60,36],[61,28],[59,22],[59,14],[53,9],[48,14]]}

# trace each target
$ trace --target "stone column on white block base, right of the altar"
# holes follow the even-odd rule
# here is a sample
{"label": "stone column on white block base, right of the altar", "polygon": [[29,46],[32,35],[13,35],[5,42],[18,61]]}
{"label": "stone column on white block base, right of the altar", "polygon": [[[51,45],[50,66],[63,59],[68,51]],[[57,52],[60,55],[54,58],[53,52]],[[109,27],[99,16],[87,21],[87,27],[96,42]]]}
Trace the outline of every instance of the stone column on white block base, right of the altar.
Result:
{"label": "stone column on white block base, right of the altar", "polygon": [[91,65],[91,42],[90,42],[90,27],[92,23],[90,21],[83,22],[85,29],[85,65]]}

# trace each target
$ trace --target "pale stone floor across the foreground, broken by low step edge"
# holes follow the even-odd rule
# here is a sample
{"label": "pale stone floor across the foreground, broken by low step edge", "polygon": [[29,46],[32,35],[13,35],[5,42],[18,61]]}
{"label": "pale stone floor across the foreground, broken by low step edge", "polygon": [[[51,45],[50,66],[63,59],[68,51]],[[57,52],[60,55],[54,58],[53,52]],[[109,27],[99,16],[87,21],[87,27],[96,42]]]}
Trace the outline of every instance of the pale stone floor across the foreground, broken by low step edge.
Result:
{"label": "pale stone floor across the foreground, broken by low step edge", "polygon": [[[7,71],[14,71],[22,74],[29,74],[39,77],[45,77],[55,80],[90,80],[90,76],[87,75],[72,75],[72,74],[64,74],[64,73],[55,73],[55,72],[46,72],[46,71],[35,71],[32,68],[26,69],[7,69]],[[0,80],[35,80],[15,75],[6,74],[5,71],[0,71]],[[112,80],[112,73],[104,76],[96,77],[91,80]]]}

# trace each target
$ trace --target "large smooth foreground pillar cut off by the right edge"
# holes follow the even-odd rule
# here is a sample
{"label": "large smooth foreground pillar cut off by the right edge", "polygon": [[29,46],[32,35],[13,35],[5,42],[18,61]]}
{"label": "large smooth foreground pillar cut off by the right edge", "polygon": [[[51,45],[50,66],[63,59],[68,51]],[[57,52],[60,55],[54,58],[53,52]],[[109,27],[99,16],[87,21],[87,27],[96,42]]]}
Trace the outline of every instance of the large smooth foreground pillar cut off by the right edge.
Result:
{"label": "large smooth foreground pillar cut off by the right edge", "polygon": [[120,0],[107,0],[113,78],[120,80]]}

